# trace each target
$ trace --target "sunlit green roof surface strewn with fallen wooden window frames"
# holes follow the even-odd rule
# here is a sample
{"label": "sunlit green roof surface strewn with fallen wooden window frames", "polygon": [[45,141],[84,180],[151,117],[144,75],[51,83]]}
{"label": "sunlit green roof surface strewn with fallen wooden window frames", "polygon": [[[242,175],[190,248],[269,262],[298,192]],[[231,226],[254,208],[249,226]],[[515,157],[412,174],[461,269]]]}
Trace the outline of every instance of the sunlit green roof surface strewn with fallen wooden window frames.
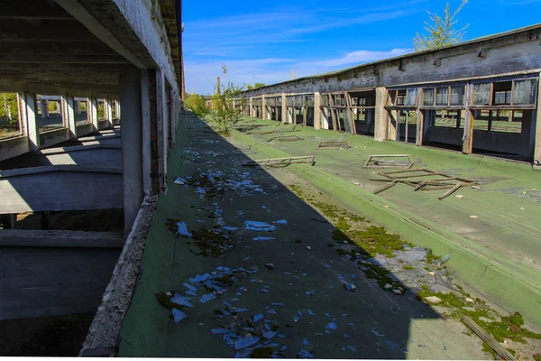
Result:
{"label": "sunlit green roof surface strewn with fallen wooden window frames", "polygon": [[[265,125],[253,129],[252,133],[291,130],[294,127],[255,118],[245,118],[243,124]],[[541,311],[538,308],[541,301],[541,171],[534,171],[525,163],[418,147],[414,144],[374,142],[371,137],[362,135],[344,135],[300,126],[295,130],[300,131],[234,134],[245,145],[252,145],[253,149],[260,151],[252,155],[255,159],[316,155],[313,172],[319,172],[328,179],[335,177],[333,181],[336,179],[336,186],[328,186],[326,191],[333,192],[336,197],[343,197],[344,204],[350,208],[355,208],[355,205],[348,202],[349,196],[345,195],[348,191],[370,198],[372,203],[394,209],[403,218],[422,224],[422,227],[436,234],[445,234],[451,243],[471,256],[468,260],[464,258],[459,261],[458,256],[454,259],[454,271],[458,278],[463,278],[473,291],[478,291],[503,309],[511,312],[518,309],[528,313],[530,325],[541,329]],[[276,136],[291,134],[303,140],[271,140]],[[353,148],[316,149],[319,142],[329,140],[349,141]],[[463,188],[447,199],[438,200],[445,190],[416,192],[406,185],[397,185],[372,196],[371,190],[385,183],[369,180],[381,177],[376,174],[378,170],[362,167],[368,156],[404,153],[408,153],[414,160],[413,169],[429,168],[479,180],[480,189]],[[340,185],[338,181],[342,181]],[[456,198],[456,195],[463,198]],[[379,221],[367,208],[354,210],[375,223]],[[472,219],[470,216],[477,218]],[[400,235],[408,232],[404,227],[393,228],[392,222],[386,222],[384,226]],[[421,239],[408,240],[426,246]],[[451,251],[448,253],[453,254]],[[472,258],[480,259],[482,263],[474,264]],[[486,272],[487,263],[491,264],[494,273]],[[501,274],[506,279],[500,277]],[[518,292],[518,287],[524,287],[520,290],[526,289],[528,294]],[[524,298],[528,301],[520,303]]]}

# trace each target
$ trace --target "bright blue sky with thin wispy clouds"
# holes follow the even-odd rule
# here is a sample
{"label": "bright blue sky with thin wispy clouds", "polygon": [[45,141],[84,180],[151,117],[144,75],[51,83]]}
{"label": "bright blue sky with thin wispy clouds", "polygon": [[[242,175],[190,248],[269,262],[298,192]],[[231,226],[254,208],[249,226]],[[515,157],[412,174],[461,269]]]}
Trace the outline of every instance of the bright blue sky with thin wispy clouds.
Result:
{"label": "bright blue sky with thin wispy clouds", "polygon": [[[443,14],[446,0],[182,3],[186,88],[209,94],[218,76],[272,84],[412,52],[426,12]],[[461,0],[450,3],[454,11]],[[539,14],[541,0],[470,0],[457,26],[470,24],[467,41],[539,23]]]}

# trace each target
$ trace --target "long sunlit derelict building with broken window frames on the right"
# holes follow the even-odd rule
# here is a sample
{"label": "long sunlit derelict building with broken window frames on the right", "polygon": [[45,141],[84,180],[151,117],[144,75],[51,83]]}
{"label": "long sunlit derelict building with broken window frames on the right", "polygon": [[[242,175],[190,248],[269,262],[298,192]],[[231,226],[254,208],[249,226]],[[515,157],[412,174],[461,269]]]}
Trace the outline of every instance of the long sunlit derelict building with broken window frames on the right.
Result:
{"label": "long sunlit derelict building with broken window frames on the right", "polygon": [[293,79],[234,102],[244,116],[537,166],[540,33],[534,25]]}

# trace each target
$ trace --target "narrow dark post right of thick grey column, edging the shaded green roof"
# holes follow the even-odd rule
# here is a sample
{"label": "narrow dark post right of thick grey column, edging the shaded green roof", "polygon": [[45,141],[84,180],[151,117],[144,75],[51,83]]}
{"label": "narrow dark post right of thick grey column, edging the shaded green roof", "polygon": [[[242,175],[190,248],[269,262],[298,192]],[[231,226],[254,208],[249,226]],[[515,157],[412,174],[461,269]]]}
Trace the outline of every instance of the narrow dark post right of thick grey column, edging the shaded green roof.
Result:
{"label": "narrow dark post right of thick grey column, edging the shaded green roof", "polygon": [[160,193],[167,191],[167,148],[169,119],[167,110],[167,88],[162,71],[156,71],[156,116],[158,121],[158,162],[160,170]]}

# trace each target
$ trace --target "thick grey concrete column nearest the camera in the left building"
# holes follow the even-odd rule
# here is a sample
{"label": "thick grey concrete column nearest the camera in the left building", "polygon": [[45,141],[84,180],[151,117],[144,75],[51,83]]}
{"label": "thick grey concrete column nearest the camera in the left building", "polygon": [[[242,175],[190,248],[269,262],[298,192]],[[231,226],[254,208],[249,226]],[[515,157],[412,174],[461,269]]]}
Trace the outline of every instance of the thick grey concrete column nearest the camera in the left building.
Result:
{"label": "thick grey concrete column nearest the camera in the left building", "polygon": [[121,128],[124,172],[124,234],[130,232],[141,207],[142,189],[142,77],[141,70],[128,68],[120,75],[120,101],[129,104],[123,109]]}

